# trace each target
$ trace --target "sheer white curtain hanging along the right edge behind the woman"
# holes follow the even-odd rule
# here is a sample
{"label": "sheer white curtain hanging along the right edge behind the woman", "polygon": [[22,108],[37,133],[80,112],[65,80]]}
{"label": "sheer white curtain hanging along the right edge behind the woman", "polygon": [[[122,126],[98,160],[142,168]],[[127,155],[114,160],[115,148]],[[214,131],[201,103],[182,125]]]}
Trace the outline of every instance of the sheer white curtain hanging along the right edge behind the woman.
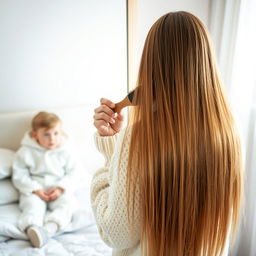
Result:
{"label": "sheer white curtain hanging along the right edge behind the woman", "polygon": [[213,0],[210,32],[240,130],[245,203],[232,256],[256,255],[256,1]]}

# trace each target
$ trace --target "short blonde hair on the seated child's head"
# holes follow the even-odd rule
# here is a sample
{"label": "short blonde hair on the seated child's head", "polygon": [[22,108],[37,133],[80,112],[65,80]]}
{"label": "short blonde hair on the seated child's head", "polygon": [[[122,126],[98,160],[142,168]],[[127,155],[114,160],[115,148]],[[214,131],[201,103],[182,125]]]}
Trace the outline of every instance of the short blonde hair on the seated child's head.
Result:
{"label": "short blonde hair on the seated child's head", "polygon": [[49,112],[39,112],[32,119],[32,131],[37,131],[39,128],[53,128],[57,124],[61,123],[60,118],[54,114]]}

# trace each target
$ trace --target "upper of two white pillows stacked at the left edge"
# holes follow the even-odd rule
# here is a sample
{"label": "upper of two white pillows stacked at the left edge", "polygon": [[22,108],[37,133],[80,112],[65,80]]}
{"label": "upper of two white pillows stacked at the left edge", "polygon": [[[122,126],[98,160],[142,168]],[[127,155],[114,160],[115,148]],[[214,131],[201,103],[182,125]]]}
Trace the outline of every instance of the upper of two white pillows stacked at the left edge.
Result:
{"label": "upper of two white pillows stacked at the left edge", "polygon": [[0,180],[11,176],[14,154],[12,150],[0,148]]}

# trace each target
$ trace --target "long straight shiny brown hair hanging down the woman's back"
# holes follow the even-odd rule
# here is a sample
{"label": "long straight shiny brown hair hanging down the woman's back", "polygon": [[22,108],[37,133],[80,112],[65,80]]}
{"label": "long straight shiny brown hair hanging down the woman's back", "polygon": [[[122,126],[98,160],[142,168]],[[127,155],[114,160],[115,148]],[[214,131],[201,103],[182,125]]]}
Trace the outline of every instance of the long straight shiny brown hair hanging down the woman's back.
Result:
{"label": "long straight shiny brown hair hanging down the woman's back", "polygon": [[143,255],[219,255],[239,217],[240,142],[197,17],[173,12],[154,23],[137,86],[127,199],[137,183]]}

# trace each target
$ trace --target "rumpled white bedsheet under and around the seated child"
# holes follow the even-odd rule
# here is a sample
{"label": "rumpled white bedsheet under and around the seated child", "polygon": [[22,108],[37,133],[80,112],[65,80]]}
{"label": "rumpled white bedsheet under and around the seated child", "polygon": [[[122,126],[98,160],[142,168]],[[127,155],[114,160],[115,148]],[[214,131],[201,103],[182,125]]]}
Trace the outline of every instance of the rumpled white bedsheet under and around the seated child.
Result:
{"label": "rumpled white bedsheet under and around the seated child", "polygon": [[18,204],[0,206],[0,256],[110,256],[111,249],[101,240],[92,214],[75,212],[65,233],[57,234],[40,248],[32,248],[17,226]]}

